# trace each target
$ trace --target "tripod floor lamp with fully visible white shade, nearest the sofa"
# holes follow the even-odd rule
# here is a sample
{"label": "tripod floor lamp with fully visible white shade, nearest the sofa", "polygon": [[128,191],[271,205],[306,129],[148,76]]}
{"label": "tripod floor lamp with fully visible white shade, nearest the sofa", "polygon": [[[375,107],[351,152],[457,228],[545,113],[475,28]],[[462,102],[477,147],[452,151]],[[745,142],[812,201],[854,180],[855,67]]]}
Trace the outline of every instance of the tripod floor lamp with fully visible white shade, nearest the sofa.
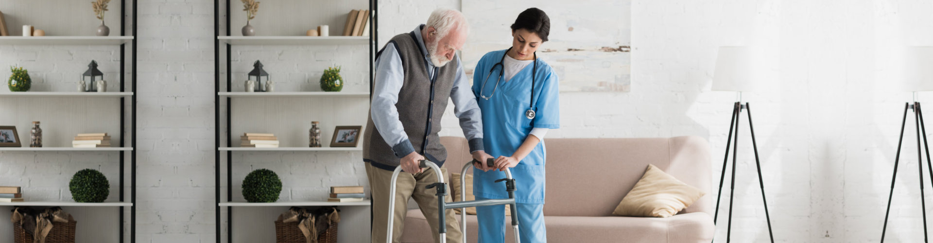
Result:
{"label": "tripod floor lamp with fully visible white shade, nearest the sofa", "polygon": [[[764,196],[764,180],[761,179],[761,163],[759,162],[758,144],[755,142],[755,127],[752,125],[751,108],[748,103],[742,104],[742,92],[751,91],[753,83],[756,80],[755,75],[756,62],[754,51],[748,47],[720,47],[716,61],[716,71],[713,76],[714,91],[732,91],[738,92],[738,100],[732,105],[732,117],[729,125],[729,138],[726,141],[726,156],[722,161],[722,175],[719,176],[719,193],[717,193],[716,211],[714,211],[713,223],[717,222],[719,216],[719,201],[722,199],[722,184],[726,178],[726,165],[729,161],[729,149],[732,149],[732,174],[729,193],[729,226],[726,231],[726,242],[731,241],[732,231],[732,198],[735,193],[735,157],[739,141],[739,121],[742,117],[742,110],[746,111],[748,116],[748,130],[751,131],[752,148],[755,150],[755,164],[758,166],[759,187],[761,189],[761,202],[764,203],[764,215],[768,221],[768,236],[771,236],[771,242],[774,242],[774,235],[771,229],[771,215],[768,213],[768,201]],[[734,139],[733,135],[734,134]]]}

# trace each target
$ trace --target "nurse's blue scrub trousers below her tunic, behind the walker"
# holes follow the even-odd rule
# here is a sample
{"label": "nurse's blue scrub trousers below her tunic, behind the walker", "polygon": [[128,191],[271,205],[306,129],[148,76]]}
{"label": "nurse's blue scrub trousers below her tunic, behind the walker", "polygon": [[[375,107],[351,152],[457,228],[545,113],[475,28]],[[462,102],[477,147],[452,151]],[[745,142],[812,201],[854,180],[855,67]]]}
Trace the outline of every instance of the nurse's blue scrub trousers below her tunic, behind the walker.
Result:
{"label": "nurse's blue scrub trousers below her tunic, behind the walker", "polygon": [[[489,198],[476,197],[476,200]],[[519,238],[522,243],[548,242],[548,230],[544,227],[543,204],[516,204],[519,213]],[[506,206],[476,207],[480,223],[479,243],[505,242],[506,227],[512,227],[511,217],[506,217]],[[514,237],[514,236],[508,236]]]}

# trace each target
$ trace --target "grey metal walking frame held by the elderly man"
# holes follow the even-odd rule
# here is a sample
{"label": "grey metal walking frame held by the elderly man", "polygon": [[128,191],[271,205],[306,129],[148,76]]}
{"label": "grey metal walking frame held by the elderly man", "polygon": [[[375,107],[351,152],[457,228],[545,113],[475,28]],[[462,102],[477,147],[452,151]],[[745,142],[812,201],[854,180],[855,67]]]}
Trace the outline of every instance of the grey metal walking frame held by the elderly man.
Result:
{"label": "grey metal walking frame held by the elderly man", "polygon": [[[515,179],[512,179],[512,173],[506,168],[506,178],[505,179],[496,179],[495,182],[506,181],[506,191],[508,192],[508,199],[486,199],[486,200],[473,200],[473,201],[460,201],[447,203],[444,202],[444,196],[447,195],[447,184],[444,183],[444,177],[441,175],[440,167],[438,164],[427,163],[427,160],[421,161],[418,165],[422,168],[430,167],[434,169],[439,175],[438,182],[427,185],[425,188],[437,188],[438,193],[438,233],[440,234],[440,243],[447,243],[447,224],[445,222],[444,211],[447,209],[453,208],[466,208],[466,207],[482,207],[482,206],[494,206],[494,205],[511,205],[512,213],[512,232],[515,233],[515,243],[521,243],[519,239],[519,218],[518,210],[515,207]],[[486,160],[487,166],[493,166],[494,159]],[[476,160],[473,160],[472,163],[467,163],[464,165],[463,170],[460,175],[460,188],[466,188],[466,169],[470,166],[473,166],[473,163],[479,163]],[[396,208],[396,180],[398,178],[398,172],[402,171],[401,166],[396,167],[396,171],[392,173],[392,190],[389,193],[389,228],[388,228],[388,237],[385,238],[387,243],[392,243],[392,222],[395,218],[395,208]],[[466,199],[465,190],[460,190],[461,200]],[[460,213],[460,232],[463,234],[463,242],[466,243],[466,209],[462,210]]]}

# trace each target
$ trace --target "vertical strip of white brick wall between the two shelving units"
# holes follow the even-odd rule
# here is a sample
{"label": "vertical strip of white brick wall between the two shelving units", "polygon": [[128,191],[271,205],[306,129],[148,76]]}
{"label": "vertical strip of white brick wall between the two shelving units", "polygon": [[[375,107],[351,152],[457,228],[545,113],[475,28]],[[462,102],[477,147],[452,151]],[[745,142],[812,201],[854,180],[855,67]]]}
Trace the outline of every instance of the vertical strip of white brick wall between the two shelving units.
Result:
{"label": "vertical strip of white brick wall between the two shelving units", "polygon": [[136,242],[214,242],[214,2],[139,5]]}

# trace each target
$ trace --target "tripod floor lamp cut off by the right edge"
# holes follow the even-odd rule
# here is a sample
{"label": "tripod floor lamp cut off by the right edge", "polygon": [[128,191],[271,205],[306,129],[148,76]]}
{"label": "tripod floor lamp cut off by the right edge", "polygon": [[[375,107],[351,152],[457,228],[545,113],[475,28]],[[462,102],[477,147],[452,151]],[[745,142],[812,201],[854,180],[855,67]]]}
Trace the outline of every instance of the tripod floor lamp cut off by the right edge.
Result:
{"label": "tripod floor lamp cut off by the right edge", "polygon": [[[920,208],[924,216],[924,242],[926,234],[926,201],[924,199],[924,151],[926,151],[926,168],[930,178],[933,179],[933,164],[930,164],[930,149],[926,142],[926,127],[924,127],[924,113],[917,102],[917,92],[933,91],[933,47],[912,47],[905,52],[904,86],[906,91],[913,93],[913,102],[904,105],[904,116],[900,121],[900,137],[898,138],[898,154],[894,157],[894,174],[891,176],[891,193],[887,196],[887,209],[884,210],[884,226],[881,231],[881,242],[884,242],[884,233],[887,231],[887,218],[891,212],[891,199],[894,196],[894,184],[898,179],[898,163],[900,162],[900,146],[904,142],[904,127],[907,125],[907,110],[913,110],[913,121],[917,133],[917,172],[920,176]],[[923,138],[921,138],[923,137]],[[924,150],[921,150],[923,145]],[[933,181],[931,181],[933,182]]]}

